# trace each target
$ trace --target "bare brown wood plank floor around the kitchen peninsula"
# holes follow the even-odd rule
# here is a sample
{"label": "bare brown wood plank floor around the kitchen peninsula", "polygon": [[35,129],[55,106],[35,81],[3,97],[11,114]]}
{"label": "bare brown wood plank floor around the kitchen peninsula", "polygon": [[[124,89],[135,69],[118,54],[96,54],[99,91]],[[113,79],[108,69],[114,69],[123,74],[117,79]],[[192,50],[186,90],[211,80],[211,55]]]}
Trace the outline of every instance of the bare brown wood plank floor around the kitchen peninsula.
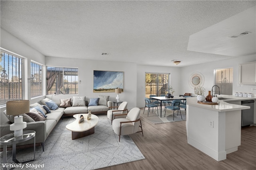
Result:
{"label": "bare brown wood plank floor around the kitchen peninsula", "polygon": [[144,137],[130,137],[146,159],[100,170],[256,170],[256,126],[242,128],[238,151],[218,162],[187,143],[185,123],[154,125],[142,117]]}

